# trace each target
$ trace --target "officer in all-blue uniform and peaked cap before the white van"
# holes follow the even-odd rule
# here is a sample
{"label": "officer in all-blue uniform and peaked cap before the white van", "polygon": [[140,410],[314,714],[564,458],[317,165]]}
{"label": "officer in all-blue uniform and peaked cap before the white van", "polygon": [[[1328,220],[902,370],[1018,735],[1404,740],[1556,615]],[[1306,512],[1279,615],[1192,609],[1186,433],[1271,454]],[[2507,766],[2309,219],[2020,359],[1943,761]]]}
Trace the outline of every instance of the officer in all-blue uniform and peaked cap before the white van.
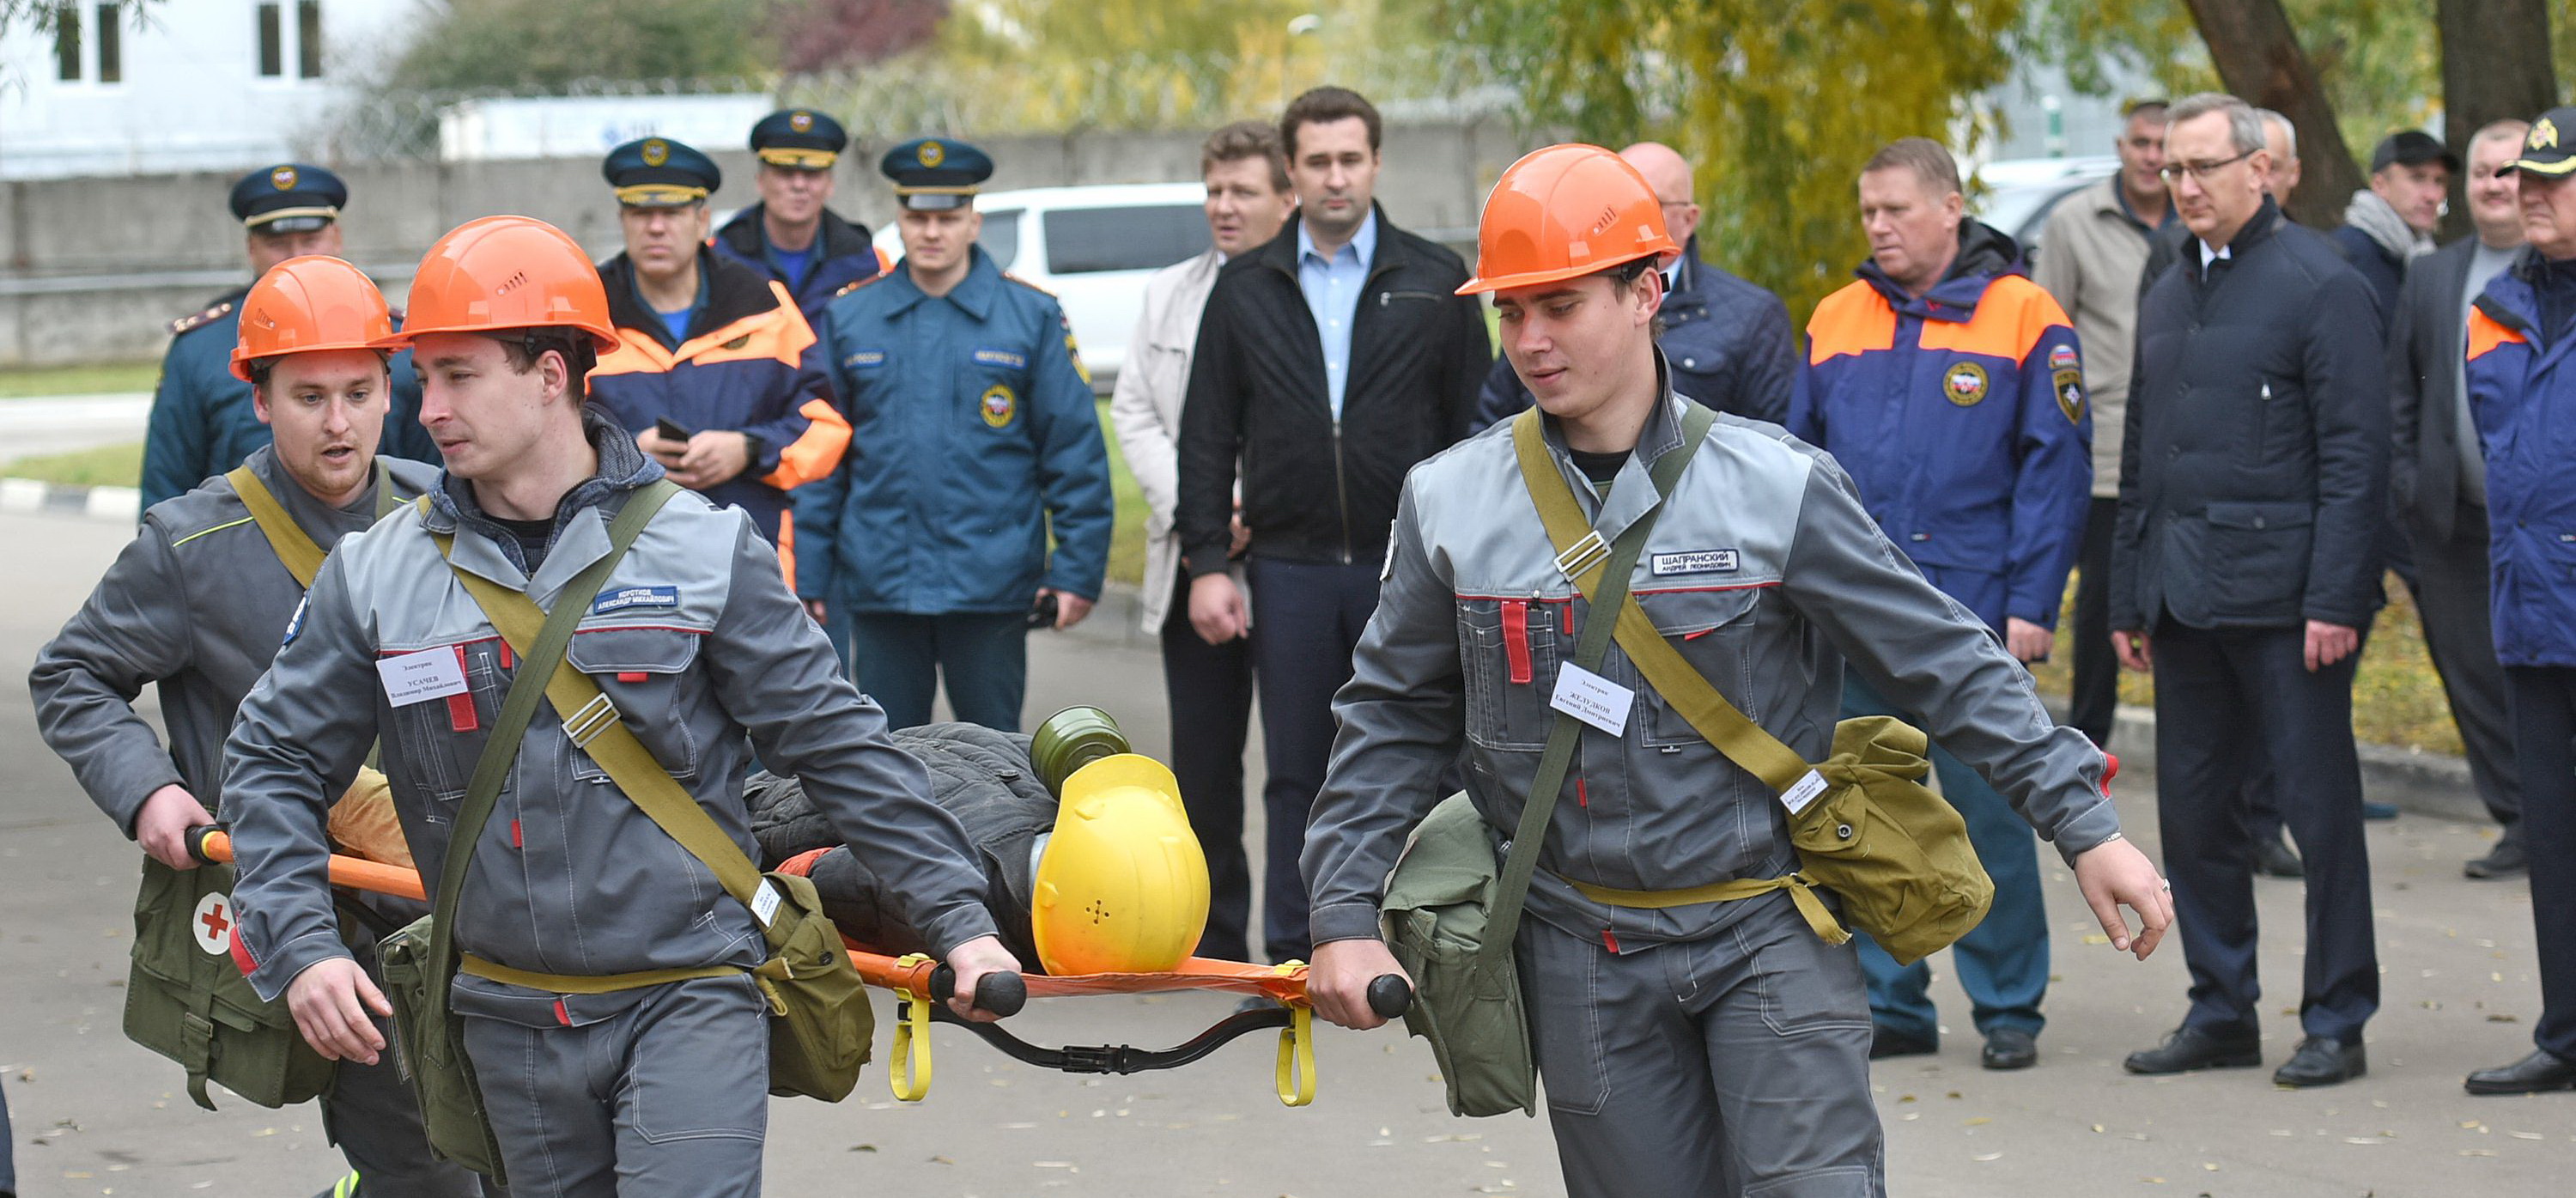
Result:
{"label": "officer in all-blue uniform and peaked cap before the white van", "polygon": [[956,719],[1018,732],[1028,629],[1079,623],[1108,572],[1100,410],[1056,299],[974,245],[992,160],[922,137],[881,170],[904,260],[824,309],[853,451],[796,492],[796,595],[894,727],[945,678]]}

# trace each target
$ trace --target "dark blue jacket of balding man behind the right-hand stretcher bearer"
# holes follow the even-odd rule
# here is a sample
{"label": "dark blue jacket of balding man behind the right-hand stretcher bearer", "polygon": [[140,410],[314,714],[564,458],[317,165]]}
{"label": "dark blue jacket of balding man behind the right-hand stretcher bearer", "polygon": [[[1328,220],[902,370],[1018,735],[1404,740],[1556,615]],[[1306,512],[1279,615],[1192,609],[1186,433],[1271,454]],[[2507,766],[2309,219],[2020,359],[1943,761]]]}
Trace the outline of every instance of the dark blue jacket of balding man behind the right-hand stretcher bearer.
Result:
{"label": "dark blue jacket of balding man behind the right-hand stretcher bearer", "polygon": [[[1780,296],[1700,260],[1700,240],[1682,252],[1682,278],[1656,312],[1672,389],[1718,412],[1747,420],[1788,420],[1790,376],[1798,371],[1798,335]],[[1476,397],[1476,428],[1530,407],[1530,389],[1510,356],[1494,358]]]}

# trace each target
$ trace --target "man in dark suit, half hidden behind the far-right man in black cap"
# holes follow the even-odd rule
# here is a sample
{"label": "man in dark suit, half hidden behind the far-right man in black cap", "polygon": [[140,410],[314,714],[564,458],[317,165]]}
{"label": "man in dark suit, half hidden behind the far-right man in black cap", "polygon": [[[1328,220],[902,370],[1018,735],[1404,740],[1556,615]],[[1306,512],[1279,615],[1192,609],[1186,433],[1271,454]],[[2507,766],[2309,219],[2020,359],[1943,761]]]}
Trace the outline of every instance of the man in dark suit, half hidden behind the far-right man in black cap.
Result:
{"label": "man in dark suit, half hidden behind the far-right man in black cap", "polygon": [[2468,775],[2504,827],[2496,848],[2463,866],[2470,879],[2512,879],[2530,866],[2512,711],[2488,618],[2486,459],[2460,384],[2468,304],[2522,252],[2522,204],[2506,162],[2527,131],[2530,121],[2494,121],[2470,137],[2468,216],[2478,234],[2416,260],[2388,314],[2388,490],[2416,554],[2424,647],[2468,745]]}

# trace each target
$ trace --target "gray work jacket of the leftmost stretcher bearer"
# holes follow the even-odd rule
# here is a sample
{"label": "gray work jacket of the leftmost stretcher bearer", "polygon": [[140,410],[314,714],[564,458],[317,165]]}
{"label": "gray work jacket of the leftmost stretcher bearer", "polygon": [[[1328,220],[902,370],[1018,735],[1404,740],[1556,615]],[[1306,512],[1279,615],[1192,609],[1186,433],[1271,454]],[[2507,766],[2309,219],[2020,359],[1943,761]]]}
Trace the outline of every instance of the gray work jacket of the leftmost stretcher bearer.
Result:
{"label": "gray work jacket of the leftmost stretcher bearer", "polygon": [[[402,500],[438,479],[417,461],[376,461]],[[273,446],[245,464],[322,549],[376,520],[376,487],[348,508],[330,508],[278,466]],[[26,678],[36,729],[129,837],[144,799],[162,786],[185,786],[219,812],[232,714],[278,654],[301,600],[304,585],[222,474],[155,502],[90,600],[36,654]],[[167,750],[134,711],[147,683],[160,685]]]}

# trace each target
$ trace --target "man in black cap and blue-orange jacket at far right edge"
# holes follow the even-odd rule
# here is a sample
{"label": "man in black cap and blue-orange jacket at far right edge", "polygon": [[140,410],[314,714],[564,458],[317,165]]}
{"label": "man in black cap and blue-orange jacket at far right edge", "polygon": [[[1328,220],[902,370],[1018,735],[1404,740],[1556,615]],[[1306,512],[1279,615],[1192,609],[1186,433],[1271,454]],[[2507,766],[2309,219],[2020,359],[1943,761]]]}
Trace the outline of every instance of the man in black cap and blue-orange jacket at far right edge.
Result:
{"label": "man in black cap and blue-orange jacket at far right edge", "polygon": [[2532,855],[2540,1018],[2532,1054],[2468,1074],[2473,1095],[2576,1090],[2576,108],[2550,108],[2504,165],[2527,250],[2468,317],[2468,404],[2486,448],[2496,657],[2512,685],[2522,840]]}

